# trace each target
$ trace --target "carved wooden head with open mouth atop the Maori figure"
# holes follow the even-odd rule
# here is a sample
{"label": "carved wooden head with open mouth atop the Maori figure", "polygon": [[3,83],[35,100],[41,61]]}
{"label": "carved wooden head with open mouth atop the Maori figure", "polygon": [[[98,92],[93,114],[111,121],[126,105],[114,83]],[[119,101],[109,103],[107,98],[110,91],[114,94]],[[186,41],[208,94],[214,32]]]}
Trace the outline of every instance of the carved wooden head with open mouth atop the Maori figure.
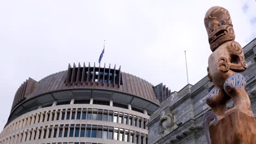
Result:
{"label": "carved wooden head with open mouth atop the Maori figure", "polygon": [[225,8],[210,8],[205,14],[205,28],[212,51],[224,42],[235,39],[229,11]]}

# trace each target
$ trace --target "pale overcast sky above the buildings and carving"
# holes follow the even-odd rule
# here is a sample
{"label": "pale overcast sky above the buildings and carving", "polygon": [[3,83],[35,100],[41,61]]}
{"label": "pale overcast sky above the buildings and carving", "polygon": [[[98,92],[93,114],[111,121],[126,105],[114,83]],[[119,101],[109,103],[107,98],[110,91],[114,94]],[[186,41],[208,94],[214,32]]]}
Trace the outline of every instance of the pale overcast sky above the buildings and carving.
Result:
{"label": "pale overcast sky above the buildings and carving", "polygon": [[171,91],[207,75],[211,54],[203,23],[215,5],[229,10],[236,41],[256,37],[256,2],[242,1],[4,1],[0,0],[0,130],[16,90],[28,77],[39,81],[68,63],[102,64]]}

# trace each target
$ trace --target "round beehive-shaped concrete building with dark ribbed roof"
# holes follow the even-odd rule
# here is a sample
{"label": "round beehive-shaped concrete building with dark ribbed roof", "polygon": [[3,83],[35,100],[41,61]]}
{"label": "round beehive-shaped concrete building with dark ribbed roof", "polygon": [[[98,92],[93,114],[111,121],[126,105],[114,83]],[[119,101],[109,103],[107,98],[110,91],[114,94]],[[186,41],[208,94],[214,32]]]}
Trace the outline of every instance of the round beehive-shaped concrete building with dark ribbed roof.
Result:
{"label": "round beehive-shaped concrete building with dark ribbed roof", "polygon": [[146,144],[158,106],[153,85],[120,68],[69,65],[20,86],[0,143]]}

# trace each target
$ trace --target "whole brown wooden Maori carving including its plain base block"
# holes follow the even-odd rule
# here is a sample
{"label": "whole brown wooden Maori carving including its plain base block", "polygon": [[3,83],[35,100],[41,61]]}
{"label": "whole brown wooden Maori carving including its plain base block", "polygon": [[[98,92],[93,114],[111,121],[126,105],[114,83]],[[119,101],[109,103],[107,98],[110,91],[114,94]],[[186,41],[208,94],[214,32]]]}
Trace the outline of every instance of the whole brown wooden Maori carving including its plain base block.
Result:
{"label": "whole brown wooden Maori carving including its plain base block", "polygon": [[[234,41],[235,33],[229,11],[222,7],[212,7],[207,11],[204,22],[212,50],[207,71],[214,84],[206,103],[216,115],[213,113],[205,118],[216,119],[216,125],[210,124],[211,141],[209,135],[206,135],[207,143],[255,143],[256,119],[245,90],[246,80],[241,74],[248,66],[242,47]],[[228,110],[226,102],[230,99],[234,107]],[[209,127],[209,122],[205,122],[205,125]]]}

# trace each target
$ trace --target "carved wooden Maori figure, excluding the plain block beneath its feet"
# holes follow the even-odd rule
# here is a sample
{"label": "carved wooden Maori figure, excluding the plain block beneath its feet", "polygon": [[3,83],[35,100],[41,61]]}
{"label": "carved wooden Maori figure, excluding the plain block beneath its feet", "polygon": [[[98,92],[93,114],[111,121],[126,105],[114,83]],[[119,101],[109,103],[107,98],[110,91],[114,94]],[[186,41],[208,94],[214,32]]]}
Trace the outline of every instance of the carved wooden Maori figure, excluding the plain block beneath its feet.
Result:
{"label": "carved wooden Maori figure, excluding the plain block beneath its feet", "polygon": [[246,80],[240,72],[247,69],[243,50],[235,40],[229,11],[212,7],[205,15],[205,27],[212,54],[208,59],[208,77],[214,88],[208,94],[207,104],[218,118],[224,117],[226,101],[234,101],[236,109],[253,116],[251,103],[245,91]]}

